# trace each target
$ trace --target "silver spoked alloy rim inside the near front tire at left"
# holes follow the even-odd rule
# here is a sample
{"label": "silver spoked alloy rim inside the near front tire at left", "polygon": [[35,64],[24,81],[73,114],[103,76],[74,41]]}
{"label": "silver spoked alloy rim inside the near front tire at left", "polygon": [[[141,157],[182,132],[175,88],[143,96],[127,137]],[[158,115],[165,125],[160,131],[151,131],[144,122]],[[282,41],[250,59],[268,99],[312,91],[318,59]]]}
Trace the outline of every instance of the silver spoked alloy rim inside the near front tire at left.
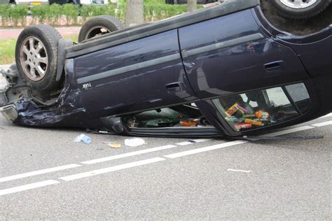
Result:
{"label": "silver spoked alloy rim inside the near front tire at left", "polygon": [[25,76],[39,81],[46,76],[48,55],[43,43],[36,37],[28,37],[23,41],[20,50],[20,62]]}

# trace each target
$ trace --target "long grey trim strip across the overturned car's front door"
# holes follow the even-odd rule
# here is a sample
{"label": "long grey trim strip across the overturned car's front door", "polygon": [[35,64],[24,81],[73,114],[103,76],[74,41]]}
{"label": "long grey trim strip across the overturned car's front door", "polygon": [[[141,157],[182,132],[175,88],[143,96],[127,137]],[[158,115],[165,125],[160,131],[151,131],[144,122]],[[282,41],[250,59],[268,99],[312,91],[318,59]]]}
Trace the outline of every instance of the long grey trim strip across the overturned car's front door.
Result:
{"label": "long grey trim strip across the overturned car's front door", "polygon": [[165,57],[159,57],[157,59],[148,60],[146,62],[132,64],[132,65],[129,65],[129,66],[123,66],[122,68],[113,69],[111,71],[96,73],[92,76],[86,76],[86,77],[83,77],[83,78],[78,78],[76,80],[76,82],[78,84],[88,83],[88,82],[91,82],[91,81],[94,81],[94,80],[100,80],[102,78],[109,78],[111,76],[116,76],[116,75],[121,74],[121,73],[126,73],[126,72],[134,71],[134,70],[137,70],[137,69],[144,69],[148,66],[154,66],[154,65],[157,65],[157,64],[171,62],[171,61],[174,61],[174,60],[177,60],[177,59],[181,59],[181,56],[180,56],[179,53],[174,54],[174,55],[167,55]]}

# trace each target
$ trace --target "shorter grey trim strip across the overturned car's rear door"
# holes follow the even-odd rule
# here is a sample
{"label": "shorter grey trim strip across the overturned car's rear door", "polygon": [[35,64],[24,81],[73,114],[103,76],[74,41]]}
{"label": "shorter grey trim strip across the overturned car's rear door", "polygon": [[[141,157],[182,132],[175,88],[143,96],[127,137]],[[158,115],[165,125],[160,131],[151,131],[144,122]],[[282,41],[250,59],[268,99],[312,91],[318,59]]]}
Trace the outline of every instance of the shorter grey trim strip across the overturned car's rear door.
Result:
{"label": "shorter grey trim strip across the overturned car's rear door", "polygon": [[250,34],[247,36],[242,36],[240,38],[234,38],[228,41],[222,41],[219,43],[214,43],[212,45],[206,45],[200,48],[194,48],[191,50],[183,50],[182,51],[182,57],[186,58],[192,55],[198,55],[204,52],[209,52],[211,50],[217,50],[217,49],[221,49],[221,48],[227,48],[233,45],[238,45],[240,43],[245,43],[245,42],[249,42],[249,41],[255,41],[258,39],[263,38],[263,35],[260,33],[256,33],[256,34]]}

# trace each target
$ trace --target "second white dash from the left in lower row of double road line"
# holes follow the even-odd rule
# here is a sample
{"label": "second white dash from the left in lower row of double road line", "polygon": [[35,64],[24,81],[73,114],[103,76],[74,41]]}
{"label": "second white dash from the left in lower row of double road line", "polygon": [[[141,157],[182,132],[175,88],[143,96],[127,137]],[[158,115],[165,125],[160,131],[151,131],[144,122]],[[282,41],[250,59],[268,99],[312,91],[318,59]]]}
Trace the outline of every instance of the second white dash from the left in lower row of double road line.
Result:
{"label": "second white dash from the left in lower row of double road line", "polygon": [[107,168],[103,168],[103,169],[97,169],[95,171],[88,171],[85,173],[77,173],[71,176],[64,176],[59,178],[60,180],[65,180],[65,181],[69,181],[69,180],[76,180],[76,179],[80,179],[80,178],[85,178],[85,177],[89,177],[89,176],[95,176],[95,175],[99,175],[102,173],[109,173],[109,172],[113,172],[113,171],[119,171],[122,169],[128,169],[134,166],[141,166],[141,165],[145,165],[145,164],[152,164],[155,162],[160,162],[162,160],[165,160],[164,158],[161,157],[155,157],[155,158],[151,158],[151,159],[144,159],[144,160],[140,160],[137,162],[131,162],[128,164],[120,164],[117,166],[111,166],[111,167],[107,167]]}

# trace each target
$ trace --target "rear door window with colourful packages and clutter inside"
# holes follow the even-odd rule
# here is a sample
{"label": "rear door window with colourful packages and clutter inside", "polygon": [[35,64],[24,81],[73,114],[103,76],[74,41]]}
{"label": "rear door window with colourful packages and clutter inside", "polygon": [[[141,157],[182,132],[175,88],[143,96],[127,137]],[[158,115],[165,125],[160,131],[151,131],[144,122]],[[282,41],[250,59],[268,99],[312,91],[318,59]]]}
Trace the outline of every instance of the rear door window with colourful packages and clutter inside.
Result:
{"label": "rear door window with colourful packages and clutter inside", "polygon": [[268,126],[298,115],[282,87],[228,95],[212,102],[235,131]]}

